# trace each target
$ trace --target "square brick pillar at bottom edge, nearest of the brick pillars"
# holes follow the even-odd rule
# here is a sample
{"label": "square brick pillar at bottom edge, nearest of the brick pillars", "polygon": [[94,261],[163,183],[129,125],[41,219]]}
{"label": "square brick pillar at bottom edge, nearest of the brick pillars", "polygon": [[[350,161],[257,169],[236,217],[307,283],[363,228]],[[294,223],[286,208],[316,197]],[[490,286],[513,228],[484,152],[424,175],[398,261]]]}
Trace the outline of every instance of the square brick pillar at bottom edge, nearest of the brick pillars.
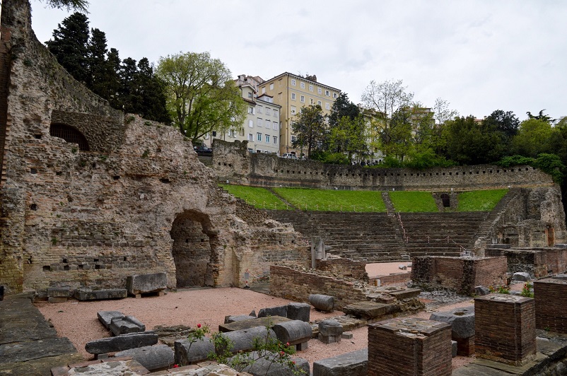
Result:
{"label": "square brick pillar at bottom edge, nearest of the brick pillars", "polygon": [[451,325],[416,318],[368,325],[368,376],[451,375]]}

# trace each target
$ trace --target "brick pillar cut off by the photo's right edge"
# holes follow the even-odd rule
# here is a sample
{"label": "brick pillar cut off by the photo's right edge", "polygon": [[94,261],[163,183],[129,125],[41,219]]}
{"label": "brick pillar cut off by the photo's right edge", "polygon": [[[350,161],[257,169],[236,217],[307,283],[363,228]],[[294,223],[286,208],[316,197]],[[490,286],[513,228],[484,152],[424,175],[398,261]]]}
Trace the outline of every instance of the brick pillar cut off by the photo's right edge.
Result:
{"label": "brick pillar cut off by the photo's right edge", "polygon": [[535,327],[567,333],[567,281],[545,278],[534,281]]}

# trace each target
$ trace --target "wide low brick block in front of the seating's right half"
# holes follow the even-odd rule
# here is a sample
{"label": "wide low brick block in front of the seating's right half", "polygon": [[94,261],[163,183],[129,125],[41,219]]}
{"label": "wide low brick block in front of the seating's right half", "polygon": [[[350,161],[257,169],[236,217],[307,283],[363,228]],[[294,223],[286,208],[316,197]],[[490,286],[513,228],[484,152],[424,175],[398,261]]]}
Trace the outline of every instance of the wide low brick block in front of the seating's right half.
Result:
{"label": "wide low brick block in front of the seating's right half", "polygon": [[414,257],[411,280],[423,288],[449,288],[459,293],[474,292],[474,286],[503,286],[506,257]]}

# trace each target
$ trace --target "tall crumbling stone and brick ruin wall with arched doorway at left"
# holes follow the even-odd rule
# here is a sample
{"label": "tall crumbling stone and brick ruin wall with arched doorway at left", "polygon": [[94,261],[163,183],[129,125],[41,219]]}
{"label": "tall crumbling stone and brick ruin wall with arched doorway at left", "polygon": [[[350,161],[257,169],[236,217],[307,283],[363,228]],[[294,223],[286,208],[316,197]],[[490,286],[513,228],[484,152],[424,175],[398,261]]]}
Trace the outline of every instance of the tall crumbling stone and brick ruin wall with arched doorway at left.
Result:
{"label": "tall crumbling stone and brick ruin wall with arched doorway at left", "polygon": [[127,276],[160,272],[170,288],[243,286],[248,269],[268,273],[267,254],[307,254],[291,226],[219,189],[179,131],[113,110],[76,82],[35,38],[27,0],[2,2],[1,28],[7,293],[124,288]]}

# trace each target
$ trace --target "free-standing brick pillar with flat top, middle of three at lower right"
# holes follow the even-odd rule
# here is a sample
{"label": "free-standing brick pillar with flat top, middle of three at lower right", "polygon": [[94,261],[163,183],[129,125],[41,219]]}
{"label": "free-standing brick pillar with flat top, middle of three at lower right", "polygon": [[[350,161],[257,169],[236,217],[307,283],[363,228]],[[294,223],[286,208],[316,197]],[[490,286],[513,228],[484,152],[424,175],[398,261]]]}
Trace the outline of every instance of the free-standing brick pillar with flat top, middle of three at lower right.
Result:
{"label": "free-standing brick pillar with flat top, middle of three at lower right", "polygon": [[474,298],[474,347],[479,358],[522,365],[535,357],[535,302],[522,296]]}

